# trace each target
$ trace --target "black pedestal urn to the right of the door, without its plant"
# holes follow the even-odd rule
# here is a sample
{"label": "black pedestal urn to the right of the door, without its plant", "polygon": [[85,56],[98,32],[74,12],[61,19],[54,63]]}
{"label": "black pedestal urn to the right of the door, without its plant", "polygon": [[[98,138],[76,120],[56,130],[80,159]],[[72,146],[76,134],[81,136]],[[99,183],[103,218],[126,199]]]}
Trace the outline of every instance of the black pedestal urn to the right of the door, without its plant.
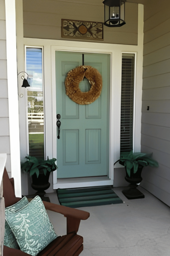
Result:
{"label": "black pedestal urn to the right of the door, without its plant", "polygon": [[137,172],[133,173],[133,168],[130,170],[130,177],[126,171],[125,180],[130,183],[129,187],[122,190],[123,195],[125,195],[128,199],[137,199],[137,198],[144,198],[144,194],[142,194],[138,189],[138,183],[142,181],[141,172],[142,172],[143,166],[138,165]]}

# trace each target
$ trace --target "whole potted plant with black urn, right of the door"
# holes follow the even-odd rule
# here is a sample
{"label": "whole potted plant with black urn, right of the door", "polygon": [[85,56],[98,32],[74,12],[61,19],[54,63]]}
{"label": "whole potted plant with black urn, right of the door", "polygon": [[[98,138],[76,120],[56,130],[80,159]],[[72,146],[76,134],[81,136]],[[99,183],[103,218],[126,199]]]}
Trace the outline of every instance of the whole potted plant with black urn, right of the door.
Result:
{"label": "whole potted plant with black urn, right of the door", "polygon": [[144,166],[159,166],[158,162],[152,159],[152,153],[133,153],[133,151],[130,151],[130,153],[122,152],[118,161],[125,166],[125,180],[131,184],[130,188],[124,189],[122,193],[128,199],[144,198],[144,195],[137,189],[137,184],[142,181],[141,172]]}

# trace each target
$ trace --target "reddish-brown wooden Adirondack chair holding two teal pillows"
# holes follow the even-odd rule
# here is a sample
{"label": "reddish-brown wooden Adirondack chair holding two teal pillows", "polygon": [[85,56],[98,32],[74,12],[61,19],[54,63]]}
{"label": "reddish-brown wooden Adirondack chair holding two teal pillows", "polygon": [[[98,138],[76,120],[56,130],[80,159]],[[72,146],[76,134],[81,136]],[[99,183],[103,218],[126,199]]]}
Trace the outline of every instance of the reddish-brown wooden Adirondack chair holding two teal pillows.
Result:
{"label": "reddish-brown wooden Adirondack chair holding two teal pillows", "polygon": [[[14,179],[9,179],[6,169],[3,175],[3,197],[5,207],[17,203],[21,198],[15,196]],[[59,212],[67,218],[67,235],[58,236],[38,256],[78,256],[83,251],[83,237],[77,235],[80,220],[87,220],[89,212],[69,208],[62,205],[44,202],[46,210]],[[4,256],[30,256],[21,250],[4,246]]]}

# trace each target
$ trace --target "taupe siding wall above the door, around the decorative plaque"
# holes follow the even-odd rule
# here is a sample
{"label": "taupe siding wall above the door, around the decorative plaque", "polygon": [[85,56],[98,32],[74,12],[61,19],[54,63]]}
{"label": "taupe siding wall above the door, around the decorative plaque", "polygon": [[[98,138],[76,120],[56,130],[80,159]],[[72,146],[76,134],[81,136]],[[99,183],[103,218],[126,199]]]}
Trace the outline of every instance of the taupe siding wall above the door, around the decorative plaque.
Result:
{"label": "taupe siding wall above the door, around the decorative plaque", "polygon": [[[99,0],[23,0],[24,37],[67,40],[61,37],[61,19],[104,22],[104,4]],[[104,40],[95,42],[137,45],[138,4],[125,4],[125,21],[120,28],[103,26]]]}

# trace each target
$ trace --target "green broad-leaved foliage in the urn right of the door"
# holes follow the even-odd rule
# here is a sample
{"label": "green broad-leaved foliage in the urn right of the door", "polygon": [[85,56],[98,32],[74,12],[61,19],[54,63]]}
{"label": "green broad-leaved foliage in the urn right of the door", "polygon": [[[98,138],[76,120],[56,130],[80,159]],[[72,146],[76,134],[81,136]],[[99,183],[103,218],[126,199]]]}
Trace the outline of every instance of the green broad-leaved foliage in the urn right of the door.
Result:
{"label": "green broad-leaved foliage in the urn right of the door", "polygon": [[136,173],[139,164],[142,166],[150,165],[158,167],[158,162],[152,159],[151,156],[152,153],[133,153],[133,151],[130,151],[130,153],[128,152],[127,154],[127,152],[122,152],[119,163],[122,164],[123,166],[126,166],[126,171],[130,177],[130,170],[133,168],[133,172]]}

